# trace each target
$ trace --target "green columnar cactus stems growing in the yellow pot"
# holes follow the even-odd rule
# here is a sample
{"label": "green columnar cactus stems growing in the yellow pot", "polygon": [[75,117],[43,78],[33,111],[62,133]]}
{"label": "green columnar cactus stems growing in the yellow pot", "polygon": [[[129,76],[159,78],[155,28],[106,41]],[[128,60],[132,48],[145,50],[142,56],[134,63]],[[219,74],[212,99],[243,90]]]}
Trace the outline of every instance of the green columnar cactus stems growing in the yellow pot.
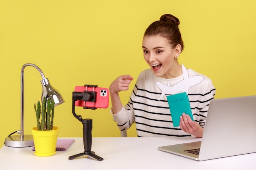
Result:
{"label": "green columnar cactus stems growing in the yellow pot", "polygon": [[[46,103],[47,103],[47,107],[46,107]],[[34,104],[34,108],[36,111],[36,121],[37,121],[38,130],[52,130],[53,119],[54,119],[54,100],[50,98],[46,99],[46,97],[44,97],[42,109],[39,101],[37,103],[37,109],[36,109],[36,104]],[[41,115],[41,122],[40,122],[40,115]]]}

